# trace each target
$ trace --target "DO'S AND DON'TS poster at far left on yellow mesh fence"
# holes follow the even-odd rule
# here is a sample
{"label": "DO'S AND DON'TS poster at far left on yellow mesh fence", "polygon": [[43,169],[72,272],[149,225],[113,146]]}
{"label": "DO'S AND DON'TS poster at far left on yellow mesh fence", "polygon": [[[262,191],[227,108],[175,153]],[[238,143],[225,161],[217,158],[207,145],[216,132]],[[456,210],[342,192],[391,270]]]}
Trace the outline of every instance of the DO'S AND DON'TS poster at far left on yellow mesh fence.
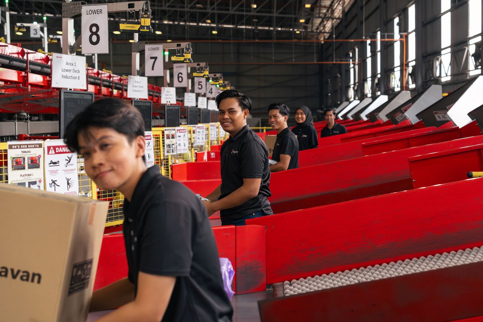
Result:
{"label": "DO'S AND DON'TS poster at far left on yellow mesh fence", "polygon": [[8,183],[43,190],[43,141],[7,142]]}

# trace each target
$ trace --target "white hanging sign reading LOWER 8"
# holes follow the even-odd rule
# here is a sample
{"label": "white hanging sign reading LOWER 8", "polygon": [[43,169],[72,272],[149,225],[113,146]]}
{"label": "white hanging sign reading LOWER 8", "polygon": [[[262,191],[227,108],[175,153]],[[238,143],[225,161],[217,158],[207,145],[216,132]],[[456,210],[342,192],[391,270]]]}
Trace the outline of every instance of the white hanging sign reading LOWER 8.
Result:
{"label": "white hanging sign reading LOWER 8", "polygon": [[82,6],[82,53],[109,54],[107,4]]}

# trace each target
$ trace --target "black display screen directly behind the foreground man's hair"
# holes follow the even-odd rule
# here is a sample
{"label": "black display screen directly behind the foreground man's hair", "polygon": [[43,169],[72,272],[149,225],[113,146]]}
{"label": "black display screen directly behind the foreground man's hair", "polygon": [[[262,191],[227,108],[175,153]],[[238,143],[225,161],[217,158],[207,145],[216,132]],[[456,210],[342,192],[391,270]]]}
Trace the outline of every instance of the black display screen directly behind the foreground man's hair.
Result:
{"label": "black display screen directly behind the foreground man's hair", "polygon": [[94,102],[93,92],[59,90],[59,138],[64,137],[65,128],[77,114]]}

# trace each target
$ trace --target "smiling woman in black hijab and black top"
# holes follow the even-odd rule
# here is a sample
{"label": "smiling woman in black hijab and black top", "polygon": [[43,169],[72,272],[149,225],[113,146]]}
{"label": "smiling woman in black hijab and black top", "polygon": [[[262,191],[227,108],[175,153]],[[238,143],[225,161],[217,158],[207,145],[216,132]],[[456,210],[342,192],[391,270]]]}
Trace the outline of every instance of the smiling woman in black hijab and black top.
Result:
{"label": "smiling woman in black hijab and black top", "polygon": [[298,150],[313,149],[319,145],[317,130],[313,126],[312,112],[307,106],[300,106],[295,111],[297,126],[292,129],[298,139]]}

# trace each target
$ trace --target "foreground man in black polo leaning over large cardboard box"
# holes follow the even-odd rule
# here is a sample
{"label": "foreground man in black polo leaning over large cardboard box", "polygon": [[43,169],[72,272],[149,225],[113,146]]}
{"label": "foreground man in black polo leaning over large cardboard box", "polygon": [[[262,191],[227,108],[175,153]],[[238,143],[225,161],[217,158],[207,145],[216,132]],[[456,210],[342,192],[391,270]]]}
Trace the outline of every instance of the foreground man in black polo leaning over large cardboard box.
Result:
{"label": "foreground man in black polo leaning over large cardboard box", "polygon": [[124,100],[98,100],[74,117],[64,140],[101,189],[125,196],[128,277],[93,293],[91,311],[119,307],[98,321],[232,321],[206,209],[159,167],[146,169],[141,113]]}

